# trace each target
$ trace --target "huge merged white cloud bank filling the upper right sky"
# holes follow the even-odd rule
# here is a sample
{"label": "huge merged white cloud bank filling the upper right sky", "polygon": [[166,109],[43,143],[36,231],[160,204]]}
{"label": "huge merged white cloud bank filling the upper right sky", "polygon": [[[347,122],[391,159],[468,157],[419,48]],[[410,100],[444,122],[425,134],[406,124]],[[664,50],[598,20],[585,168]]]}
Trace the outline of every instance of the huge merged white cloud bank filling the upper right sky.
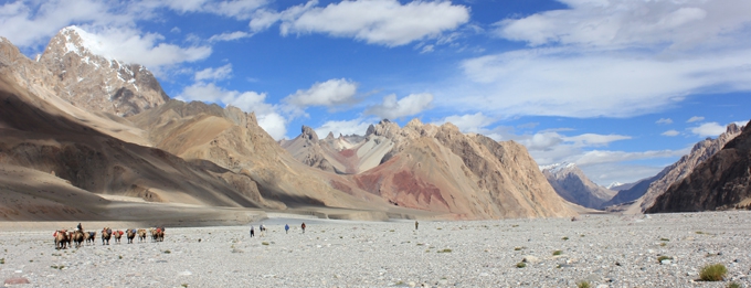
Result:
{"label": "huge merged white cloud bank filling the upper right sky", "polygon": [[562,2],[570,9],[500,21],[497,35],[530,46],[464,61],[464,74],[441,89],[464,97],[438,95],[436,105],[632,117],[691,94],[751,90],[751,1]]}

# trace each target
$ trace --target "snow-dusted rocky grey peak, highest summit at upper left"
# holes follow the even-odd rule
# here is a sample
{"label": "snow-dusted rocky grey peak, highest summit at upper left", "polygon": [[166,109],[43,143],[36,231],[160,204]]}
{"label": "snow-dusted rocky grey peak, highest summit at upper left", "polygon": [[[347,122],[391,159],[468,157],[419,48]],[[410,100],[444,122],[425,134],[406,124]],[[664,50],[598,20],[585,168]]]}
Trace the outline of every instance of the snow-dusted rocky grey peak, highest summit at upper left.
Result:
{"label": "snow-dusted rocky grey peak, highest summit at upper left", "polygon": [[52,38],[39,62],[60,79],[55,95],[89,111],[130,116],[169,99],[146,67],[103,56],[101,43],[76,26]]}

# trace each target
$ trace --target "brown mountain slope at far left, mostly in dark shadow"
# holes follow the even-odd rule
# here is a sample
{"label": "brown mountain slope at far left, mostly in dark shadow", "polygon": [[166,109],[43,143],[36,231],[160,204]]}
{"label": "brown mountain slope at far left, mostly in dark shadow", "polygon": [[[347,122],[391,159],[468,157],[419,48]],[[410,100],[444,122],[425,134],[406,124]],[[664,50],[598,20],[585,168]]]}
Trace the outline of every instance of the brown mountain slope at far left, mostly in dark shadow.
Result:
{"label": "brown mountain slope at far left, mostly in dark shadow", "polygon": [[[40,63],[23,56],[8,40],[0,41],[0,166],[6,171],[0,189],[7,192],[3,198],[14,200],[3,201],[6,211],[18,215],[36,211],[29,212],[32,218],[54,215],[64,220],[78,214],[89,220],[96,215],[112,218],[106,207],[113,203],[103,195],[274,207],[261,199],[256,183],[246,175],[207,161],[186,161],[105,132],[138,138],[136,129],[120,130],[120,122],[60,100],[50,89],[57,85],[55,78],[43,77],[42,71]],[[34,78],[31,72],[42,77]],[[8,177],[18,173],[23,175],[20,183]]]}

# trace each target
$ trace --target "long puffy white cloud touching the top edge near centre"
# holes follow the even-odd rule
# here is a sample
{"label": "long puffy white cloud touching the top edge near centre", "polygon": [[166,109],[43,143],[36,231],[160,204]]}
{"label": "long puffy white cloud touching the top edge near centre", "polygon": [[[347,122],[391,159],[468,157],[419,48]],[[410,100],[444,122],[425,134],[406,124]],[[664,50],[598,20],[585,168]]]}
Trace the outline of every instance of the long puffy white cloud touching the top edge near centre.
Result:
{"label": "long puffy white cloud touching the top edge near centre", "polygon": [[326,33],[353,38],[371,44],[404,45],[413,41],[435,39],[444,31],[469,21],[469,9],[449,1],[355,0],[316,7],[313,0],[283,12],[261,11],[251,21],[254,31],[282,21],[283,35],[290,33]]}

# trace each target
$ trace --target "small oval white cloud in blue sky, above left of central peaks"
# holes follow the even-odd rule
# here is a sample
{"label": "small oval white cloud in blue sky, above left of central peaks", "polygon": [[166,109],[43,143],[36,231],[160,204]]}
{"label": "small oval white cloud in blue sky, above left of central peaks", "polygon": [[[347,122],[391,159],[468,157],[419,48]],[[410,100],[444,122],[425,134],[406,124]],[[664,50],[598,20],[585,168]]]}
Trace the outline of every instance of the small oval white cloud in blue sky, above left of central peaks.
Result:
{"label": "small oval white cloud in blue sky, above left of central peaks", "polygon": [[316,83],[307,90],[297,90],[284,98],[284,102],[297,107],[327,106],[332,107],[356,102],[358,84],[345,78]]}

